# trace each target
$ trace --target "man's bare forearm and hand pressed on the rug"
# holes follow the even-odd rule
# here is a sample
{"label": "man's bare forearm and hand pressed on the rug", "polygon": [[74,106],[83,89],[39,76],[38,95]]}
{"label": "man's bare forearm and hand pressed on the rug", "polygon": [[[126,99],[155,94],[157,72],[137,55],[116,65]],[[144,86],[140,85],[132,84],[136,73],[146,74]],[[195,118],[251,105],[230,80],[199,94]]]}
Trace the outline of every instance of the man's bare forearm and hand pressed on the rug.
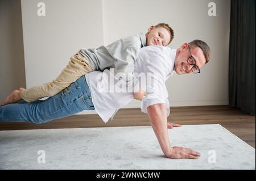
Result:
{"label": "man's bare forearm and hand pressed on the rug", "polygon": [[150,123],[154,129],[155,135],[158,138],[158,142],[163,150],[164,155],[167,158],[192,158],[197,159],[200,157],[200,153],[191,150],[189,148],[174,146],[171,148],[168,128],[167,128],[167,115],[165,104],[154,104],[147,107],[148,116],[150,117]]}

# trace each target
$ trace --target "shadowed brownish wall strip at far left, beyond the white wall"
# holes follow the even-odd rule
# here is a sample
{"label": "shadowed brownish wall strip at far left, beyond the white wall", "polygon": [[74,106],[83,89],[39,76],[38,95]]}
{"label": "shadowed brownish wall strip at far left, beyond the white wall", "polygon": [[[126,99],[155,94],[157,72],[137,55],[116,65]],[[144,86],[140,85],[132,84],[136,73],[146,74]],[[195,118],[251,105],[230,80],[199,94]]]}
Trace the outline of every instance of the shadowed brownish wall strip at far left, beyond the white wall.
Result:
{"label": "shadowed brownish wall strip at far left, beyond the white wall", "polygon": [[20,1],[0,1],[0,102],[26,86]]}

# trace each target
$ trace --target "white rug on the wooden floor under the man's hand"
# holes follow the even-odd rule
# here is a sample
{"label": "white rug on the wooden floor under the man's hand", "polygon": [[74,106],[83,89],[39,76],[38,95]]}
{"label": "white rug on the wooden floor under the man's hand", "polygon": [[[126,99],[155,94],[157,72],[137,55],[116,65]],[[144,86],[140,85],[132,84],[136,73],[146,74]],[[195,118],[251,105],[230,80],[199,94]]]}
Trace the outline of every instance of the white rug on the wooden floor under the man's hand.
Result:
{"label": "white rug on the wooden floor under the man's hand", "polygon": [[255,169],[255,149],[221,125],[168,132],[201,157],[164,157],[151,127],[0,131],[0,169]]}

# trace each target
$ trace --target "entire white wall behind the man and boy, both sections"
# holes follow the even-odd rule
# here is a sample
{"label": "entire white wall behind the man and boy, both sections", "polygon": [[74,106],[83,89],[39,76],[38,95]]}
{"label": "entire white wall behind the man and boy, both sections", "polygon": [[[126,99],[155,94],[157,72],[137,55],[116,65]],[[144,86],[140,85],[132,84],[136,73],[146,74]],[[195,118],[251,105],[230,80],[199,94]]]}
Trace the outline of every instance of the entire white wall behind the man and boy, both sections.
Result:
{"label": "entire white wall behind the man and boy, both sections", "polygon": [[[36,14],[38,2],[46,3],[45,17]],[[217,16],[208,16],[209,2],[216,3]],[[201,74],[175,74],[167,81],[171,106],[228,104],[229,19],[230,0],[22,0],[27,87],[56,78],[80,48],[107,45],[166,22],[175,32],[171,48],[201,39],[212,50]]]}

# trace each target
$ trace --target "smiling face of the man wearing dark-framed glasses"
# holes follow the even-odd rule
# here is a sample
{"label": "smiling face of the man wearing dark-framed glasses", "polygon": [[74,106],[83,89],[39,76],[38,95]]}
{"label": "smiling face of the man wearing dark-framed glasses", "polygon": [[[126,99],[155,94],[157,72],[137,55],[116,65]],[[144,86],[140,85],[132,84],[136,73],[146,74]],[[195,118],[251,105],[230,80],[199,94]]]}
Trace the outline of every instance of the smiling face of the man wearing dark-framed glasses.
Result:
{"label": "smiling face of the man wearing dark-framed glasses", "polygon": [[[181,45],[177,49],[174,70],[177,74],[190,74],[192,73],[193,65],[188,64],[188,58],[190,56],[195,60],[196,66],[200,69],[206,62],[203,50],[199,47],[190,47],[191,54],[189,52],[188,43]],[[189,59],[190,60],[190,59]],[[194,68],[195,69],[195,68]]]}

